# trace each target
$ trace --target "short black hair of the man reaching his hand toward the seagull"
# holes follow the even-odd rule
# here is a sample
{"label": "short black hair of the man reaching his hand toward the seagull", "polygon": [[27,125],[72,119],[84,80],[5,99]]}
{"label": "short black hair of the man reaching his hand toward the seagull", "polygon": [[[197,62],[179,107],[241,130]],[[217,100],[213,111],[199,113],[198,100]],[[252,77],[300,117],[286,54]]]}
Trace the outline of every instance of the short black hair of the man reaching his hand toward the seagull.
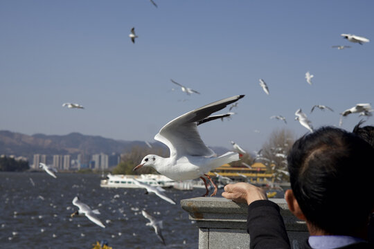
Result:
{"label": "short black hair of the man reaching his hand toward the seagull", "polygon": [[374,207],[374,148],[353,133],[322,127],[294,143],[291,187],[305,218],[328,234],[363,228]]}

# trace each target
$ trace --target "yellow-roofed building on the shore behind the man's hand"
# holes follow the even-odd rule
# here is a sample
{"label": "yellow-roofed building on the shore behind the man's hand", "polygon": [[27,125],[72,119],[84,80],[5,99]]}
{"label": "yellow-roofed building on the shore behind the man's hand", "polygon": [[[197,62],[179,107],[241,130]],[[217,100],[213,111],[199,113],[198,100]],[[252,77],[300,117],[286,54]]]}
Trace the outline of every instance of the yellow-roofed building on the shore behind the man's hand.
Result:
{"label": "yellow-roofed building on the shore behind the man's hand", "polygon": [[231,167],[229,164],[217,167],[217,169],[208,172],[209,176],[217,177],[215,173],[220,176],[225,176],[233,181],[247,181],[251,183],[267,183],[267,181],[274,182],[274,174],[265,173],[267,167],[262,163],[253,163],[249,167]]}

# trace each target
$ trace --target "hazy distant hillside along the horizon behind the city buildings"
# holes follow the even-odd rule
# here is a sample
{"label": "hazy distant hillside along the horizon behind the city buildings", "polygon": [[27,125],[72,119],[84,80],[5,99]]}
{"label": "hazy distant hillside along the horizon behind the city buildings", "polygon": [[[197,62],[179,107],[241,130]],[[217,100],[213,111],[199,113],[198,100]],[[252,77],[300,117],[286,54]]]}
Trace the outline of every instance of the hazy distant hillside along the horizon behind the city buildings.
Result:
{"label": "hazy distant hillside along the horizon behind the city buildings", "polygon": [[[161,142],[152,142],[153,147],[167,149]],[[146,147],[143,141],[125,141],[103,138],[101,136],[88,136],[81,133],[67,135],[35,134],[28,136],[12,131],[0,131],[0,155],[26,156],[33,158],[33,154],[46,155],[76,155],[76,154],[105,154],[124,153],[131,151],[132,147]],[[228,151],[223,147],[212,147],[218,154]]]}

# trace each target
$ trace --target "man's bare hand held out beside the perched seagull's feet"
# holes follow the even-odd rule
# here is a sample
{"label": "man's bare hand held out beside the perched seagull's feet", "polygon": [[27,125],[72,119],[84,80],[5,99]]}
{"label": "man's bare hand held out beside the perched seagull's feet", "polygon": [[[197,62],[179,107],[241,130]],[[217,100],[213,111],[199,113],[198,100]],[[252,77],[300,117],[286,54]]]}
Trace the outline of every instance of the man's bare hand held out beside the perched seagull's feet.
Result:
{"label": "man's bare hand held out beside the perched seagull's feet", "polygon": [[253,201],[267,200],[265,190],[249,183],[228,184],[224,186],[222,196],[237,203],[247,203],[248,205]]}

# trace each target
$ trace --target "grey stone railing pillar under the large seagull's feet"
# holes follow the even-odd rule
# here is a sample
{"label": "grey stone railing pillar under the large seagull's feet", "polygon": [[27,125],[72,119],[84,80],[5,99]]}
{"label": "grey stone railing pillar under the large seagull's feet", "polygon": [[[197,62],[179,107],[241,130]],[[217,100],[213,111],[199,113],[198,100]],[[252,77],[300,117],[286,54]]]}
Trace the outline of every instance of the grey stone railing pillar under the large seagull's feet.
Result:
{"label": "grey stone railing pillar under the large seagull's feet", "polygon": [[[281,208],[281,215],[291,244],[308,238],[305,222],[288,210],[285,199],[269,199]],[[249,248],[247,204],[224,198],[198,197],[181,201],[181,207],[199,228],[199,249]]]}

